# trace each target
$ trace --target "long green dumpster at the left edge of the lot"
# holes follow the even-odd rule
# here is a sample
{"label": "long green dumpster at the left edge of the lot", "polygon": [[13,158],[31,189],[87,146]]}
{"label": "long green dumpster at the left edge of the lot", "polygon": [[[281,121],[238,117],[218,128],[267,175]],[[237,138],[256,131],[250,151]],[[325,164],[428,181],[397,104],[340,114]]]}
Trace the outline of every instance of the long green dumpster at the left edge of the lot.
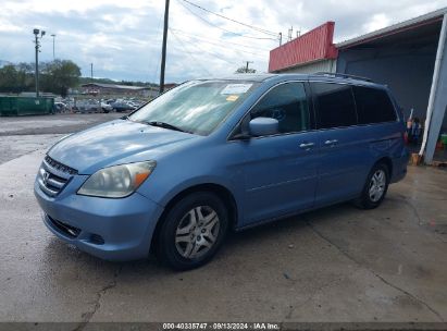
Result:
{"label": "long green dumpster at the left edge of the lot", "polygon": [[53,111],[53,98],[0,97],[1,117],[44,115]]}

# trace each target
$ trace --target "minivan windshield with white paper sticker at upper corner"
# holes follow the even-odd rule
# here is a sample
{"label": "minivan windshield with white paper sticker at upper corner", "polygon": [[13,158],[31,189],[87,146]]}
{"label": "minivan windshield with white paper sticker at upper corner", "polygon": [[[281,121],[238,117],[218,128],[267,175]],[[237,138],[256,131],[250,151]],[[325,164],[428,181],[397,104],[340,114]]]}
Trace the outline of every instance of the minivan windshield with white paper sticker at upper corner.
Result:
{"label": "minivan windshield with white paper sticker at upper corner", "polygon": [[[148,124],[163,123],[208,135],[254,89],[240,81],[193,81],[166,91],[129,117]],[[160,125],[161,126],[161,125]]]}

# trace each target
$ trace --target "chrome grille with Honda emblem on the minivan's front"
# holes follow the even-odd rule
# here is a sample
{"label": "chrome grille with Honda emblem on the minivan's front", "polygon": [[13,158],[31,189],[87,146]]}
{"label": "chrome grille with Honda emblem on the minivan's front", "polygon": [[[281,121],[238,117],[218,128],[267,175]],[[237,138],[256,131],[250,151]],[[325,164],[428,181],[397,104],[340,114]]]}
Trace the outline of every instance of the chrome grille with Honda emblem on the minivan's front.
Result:
{"label": "chrome grille with Honda emblem on the minivan's front", "polygon": [[37,175],[40,189],[57,196],[77,171],[46,156]]}

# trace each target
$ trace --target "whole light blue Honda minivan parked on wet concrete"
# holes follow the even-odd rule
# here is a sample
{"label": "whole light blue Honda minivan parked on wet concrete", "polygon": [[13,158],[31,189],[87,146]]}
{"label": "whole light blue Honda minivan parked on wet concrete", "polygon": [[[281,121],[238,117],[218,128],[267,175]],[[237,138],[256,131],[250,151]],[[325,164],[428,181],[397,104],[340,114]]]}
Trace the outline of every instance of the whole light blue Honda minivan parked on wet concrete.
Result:
{"label": "whole light blue Honda minivan parked on wet concrete", "polygon": [[100,258],[203,265],[228,230],[352,200],[407,172],[389,90],[339,74],[197,79],[70,135],[35,182],[48,229]]}

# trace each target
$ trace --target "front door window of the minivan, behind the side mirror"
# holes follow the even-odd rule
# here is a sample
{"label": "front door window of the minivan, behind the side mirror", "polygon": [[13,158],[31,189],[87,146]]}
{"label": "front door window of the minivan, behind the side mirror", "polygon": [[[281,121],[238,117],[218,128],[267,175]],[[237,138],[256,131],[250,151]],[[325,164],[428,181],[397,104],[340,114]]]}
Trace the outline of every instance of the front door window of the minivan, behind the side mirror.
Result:
{"label": "front door window of the minivan, behind the side mirror", "polygon": [[286,83],[270,90],[251,110],[251,119],[272,118],[280,132],[309,130],[309,105],[302,83]]}

